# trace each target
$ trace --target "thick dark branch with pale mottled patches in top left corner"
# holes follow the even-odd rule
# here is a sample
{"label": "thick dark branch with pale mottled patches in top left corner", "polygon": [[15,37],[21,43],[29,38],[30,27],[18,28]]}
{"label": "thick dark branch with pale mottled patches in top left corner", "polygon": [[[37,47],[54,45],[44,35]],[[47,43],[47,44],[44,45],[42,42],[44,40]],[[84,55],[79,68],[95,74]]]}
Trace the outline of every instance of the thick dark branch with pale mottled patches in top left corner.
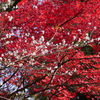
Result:
{"label": "thick dark branch with pale mottled patches in top left corner", "polygon": [[0,12],[5,12],[5,11],[12,11],[16,10],[16,5],[20,2],[21,0],[10,0],[7,2],[3,2],[0,4]]}

